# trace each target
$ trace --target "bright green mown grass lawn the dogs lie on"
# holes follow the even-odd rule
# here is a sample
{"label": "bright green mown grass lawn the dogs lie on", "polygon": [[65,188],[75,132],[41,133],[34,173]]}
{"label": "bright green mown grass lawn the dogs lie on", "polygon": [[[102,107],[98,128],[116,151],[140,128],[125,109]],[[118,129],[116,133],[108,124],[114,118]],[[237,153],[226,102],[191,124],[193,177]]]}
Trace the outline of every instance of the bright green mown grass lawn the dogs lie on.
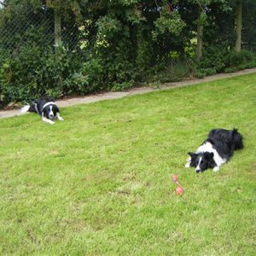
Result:
{"label": "bright green mown grass lawn the dogs lie on", "polygon": [[[0,120],[2,255],[255,255],[256,74],[61,116]],[[219,172],[184,168],[219,127],[245,148]]]}

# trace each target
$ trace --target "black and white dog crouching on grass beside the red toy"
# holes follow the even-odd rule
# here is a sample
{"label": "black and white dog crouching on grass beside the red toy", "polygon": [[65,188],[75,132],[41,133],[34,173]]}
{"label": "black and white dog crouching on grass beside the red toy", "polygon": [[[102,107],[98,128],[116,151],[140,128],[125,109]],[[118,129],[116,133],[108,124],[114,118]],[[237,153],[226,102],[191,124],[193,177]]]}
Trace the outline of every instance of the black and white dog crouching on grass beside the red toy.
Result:
{"label": "black and white dog crouching on grass beside the red toy", "polygon": [[188,153],[190,157],[185,167],[195,167],[195,172],[204,172],[208,168],[218,172],[219,167],[230,160],[234,150],[240,148],[243,148],[242,136],[236,129],[213,129],[195,153]]}

